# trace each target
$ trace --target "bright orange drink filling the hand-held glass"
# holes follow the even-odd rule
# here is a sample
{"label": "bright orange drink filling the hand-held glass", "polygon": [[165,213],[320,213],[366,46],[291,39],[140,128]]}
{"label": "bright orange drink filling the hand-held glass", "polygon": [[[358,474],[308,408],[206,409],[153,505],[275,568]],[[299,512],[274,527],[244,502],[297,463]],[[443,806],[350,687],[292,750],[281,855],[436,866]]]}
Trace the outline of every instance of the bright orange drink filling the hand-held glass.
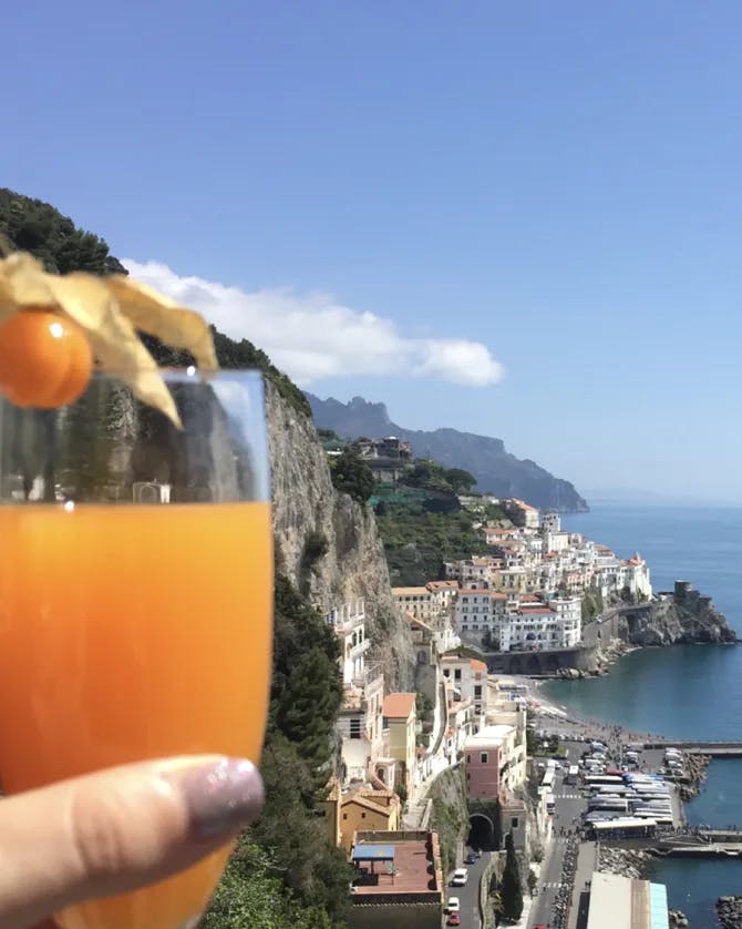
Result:
{"label": "bright orange drink filling the hand-held glass", "polygon": [[[135,759],[260,757],[269,504],[0,507],[0,777],[8,793]],[[196,916],[227,850],[65,927]],[[142,912],[140,912],[142,910]]]}

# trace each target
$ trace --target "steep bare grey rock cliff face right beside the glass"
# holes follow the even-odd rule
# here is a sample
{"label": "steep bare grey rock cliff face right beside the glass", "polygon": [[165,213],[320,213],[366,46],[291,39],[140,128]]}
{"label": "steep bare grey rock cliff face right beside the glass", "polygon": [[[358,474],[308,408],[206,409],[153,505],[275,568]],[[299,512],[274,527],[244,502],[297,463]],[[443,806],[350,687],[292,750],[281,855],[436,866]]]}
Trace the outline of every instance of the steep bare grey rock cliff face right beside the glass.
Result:
{"label": "steep bare grey rock cliff face right beside the glass", "polygon": [[381,661],[388,684],[408,690],[414,654],[392,600],[373,514],[333,489],[311,420],[269,384],[266,390],[278,570],[322,610],[364,598],[373,643],[367,662]]}

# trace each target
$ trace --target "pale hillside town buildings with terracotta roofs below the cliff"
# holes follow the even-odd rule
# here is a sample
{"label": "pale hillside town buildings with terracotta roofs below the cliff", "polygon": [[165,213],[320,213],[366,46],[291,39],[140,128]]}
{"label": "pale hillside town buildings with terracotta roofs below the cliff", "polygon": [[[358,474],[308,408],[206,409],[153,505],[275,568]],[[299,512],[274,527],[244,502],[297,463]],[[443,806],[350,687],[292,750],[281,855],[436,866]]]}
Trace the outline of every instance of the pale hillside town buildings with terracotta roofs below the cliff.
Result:
{"label": "pale hillside town buildings with terracotta roofs below the cliff", "polygon": [[[482,501],[461,502],[475,513]],[[388,692],[382,666],[368,661],[363,600],[326,617],[340,641],[343,701],[324,810],[331,841],[357,868],[353,927],[468,925],[458,898],[452,909],[445,897],[466,849],[442,847],[431,825],[431,786],[446,770],[467,799],[470,849],[494,851],[507,835],[522,860],[543,855],[555,838],[555,803],[548,785],[528,792],[533,703],[526,683],[488,673],[487,654],[574,649],[588,600],[652,593],[638,553],[622,560],[523,500],[486,502],[507,515],[496,524],[473,515],[486,555],[446,563],[443,579],[392,589],[414,644],[415,692]],[[504,855],[492,857],[493,872],[502,872]]]}

